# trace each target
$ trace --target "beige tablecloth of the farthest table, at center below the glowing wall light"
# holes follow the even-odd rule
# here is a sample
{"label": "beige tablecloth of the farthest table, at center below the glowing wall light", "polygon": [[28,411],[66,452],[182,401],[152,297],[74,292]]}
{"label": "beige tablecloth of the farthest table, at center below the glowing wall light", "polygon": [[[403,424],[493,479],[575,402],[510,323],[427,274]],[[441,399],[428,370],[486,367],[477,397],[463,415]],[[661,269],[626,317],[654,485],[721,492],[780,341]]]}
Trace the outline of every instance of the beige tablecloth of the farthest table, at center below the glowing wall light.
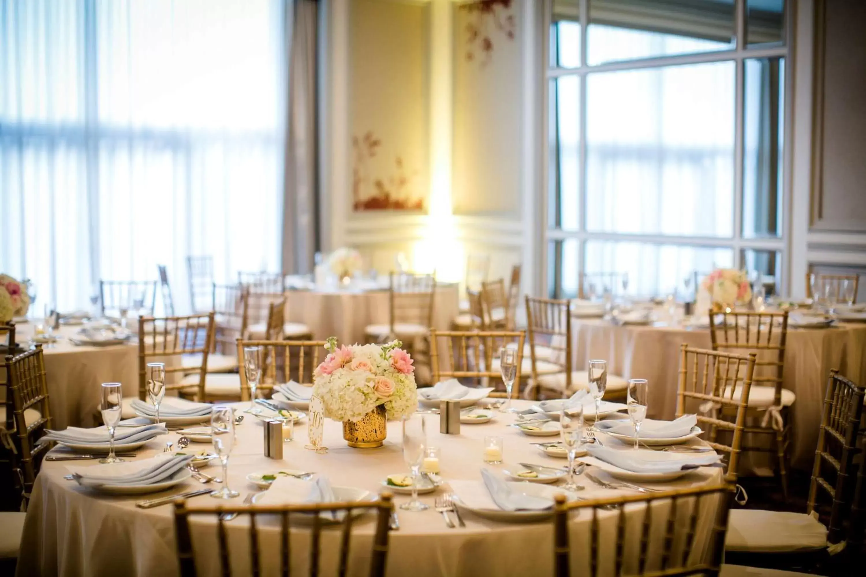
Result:
{"label": "beige tablecloth of the farthest table, at center below the glowing wall light", "polygon": [[[365,343],[364,329],[369,324],[388,323],[388,290],[316,287],[286,292],[287,318],[306,324],[313,338],[337,337],[339,343]],[[433,303],[433,328],[448,330],[457,316],[457,285],[436,285]]]}

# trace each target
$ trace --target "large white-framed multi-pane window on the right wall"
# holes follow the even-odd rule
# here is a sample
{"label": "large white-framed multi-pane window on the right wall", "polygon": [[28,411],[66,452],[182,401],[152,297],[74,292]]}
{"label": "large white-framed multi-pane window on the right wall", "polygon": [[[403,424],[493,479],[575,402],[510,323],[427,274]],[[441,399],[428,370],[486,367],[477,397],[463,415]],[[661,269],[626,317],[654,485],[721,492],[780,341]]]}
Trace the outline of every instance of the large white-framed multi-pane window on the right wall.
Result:
{"label": "large white-framed multi-pane window on the right wall", "polygon": [[583,272],[682,293],[719,266],[785,290],[784,0],[549,6],[551,295]]}

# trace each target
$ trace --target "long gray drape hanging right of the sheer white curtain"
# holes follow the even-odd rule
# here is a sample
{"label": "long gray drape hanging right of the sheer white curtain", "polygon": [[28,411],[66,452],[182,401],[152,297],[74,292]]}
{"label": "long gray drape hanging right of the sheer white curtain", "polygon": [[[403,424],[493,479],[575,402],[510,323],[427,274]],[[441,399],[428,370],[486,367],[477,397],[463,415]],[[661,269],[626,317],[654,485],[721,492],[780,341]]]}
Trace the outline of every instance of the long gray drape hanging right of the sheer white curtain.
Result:
{"label": "long gray drape hanging right of the sheer white curtain", "polygon": [[312,272],[317,247],[316,34],[315,0],[288,3],[288,109],[282,270]]}

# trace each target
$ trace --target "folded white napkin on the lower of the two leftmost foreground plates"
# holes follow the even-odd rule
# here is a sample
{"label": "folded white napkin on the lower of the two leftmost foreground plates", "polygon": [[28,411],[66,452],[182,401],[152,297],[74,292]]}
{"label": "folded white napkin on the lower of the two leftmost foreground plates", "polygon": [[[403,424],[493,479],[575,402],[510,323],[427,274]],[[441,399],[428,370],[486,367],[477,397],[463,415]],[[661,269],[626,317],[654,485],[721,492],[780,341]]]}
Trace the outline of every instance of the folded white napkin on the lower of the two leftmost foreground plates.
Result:
{"label": "folded white napkin on the lower of the two leftmost foreground plates", "polygon": [[181,471],[193,455],[160,453],[156,457],[126,463],[109,463],[87,467],[68,467],[82,487],[110,485],[156,484]]}

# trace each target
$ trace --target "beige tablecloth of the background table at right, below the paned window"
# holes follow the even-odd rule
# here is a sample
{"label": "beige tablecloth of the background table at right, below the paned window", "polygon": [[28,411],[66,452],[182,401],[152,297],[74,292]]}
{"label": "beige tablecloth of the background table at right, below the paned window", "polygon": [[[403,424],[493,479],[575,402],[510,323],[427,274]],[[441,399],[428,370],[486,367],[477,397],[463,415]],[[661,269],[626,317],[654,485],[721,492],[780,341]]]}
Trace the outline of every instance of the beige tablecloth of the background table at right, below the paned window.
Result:
{"label": "beige tablecloth of the background table at right, below the paned window", "polygon": [[[616,325],[600,318],[572,318],[572,361],[583,369],[590,359],[606,359],[612,374],[647,379],[653,388],[649,417],[672,419],[679,387],[680,345],[709,349],[706,328],[663,323]],[[783,387],[797,395],[790,408],[792,466],[811,469],[830,369],[854,382],[866,378],[866,324],[827,329],[788,329]],[[742,469],[767,474],[769,454],[746,452]]]}

